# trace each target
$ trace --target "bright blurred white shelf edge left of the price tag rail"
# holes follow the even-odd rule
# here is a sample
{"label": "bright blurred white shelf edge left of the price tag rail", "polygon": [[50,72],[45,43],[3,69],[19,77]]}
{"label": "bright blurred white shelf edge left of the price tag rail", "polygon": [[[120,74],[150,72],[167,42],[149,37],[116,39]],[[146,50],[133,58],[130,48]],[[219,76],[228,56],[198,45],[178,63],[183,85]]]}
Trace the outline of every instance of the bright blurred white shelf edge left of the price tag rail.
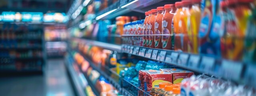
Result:
{"label": "bright blurred white shelf edge left of the price tag rail", "polygon": [[87,40],[87,39],[82,39],[82,38],[73,38],[73,40],[76,40],[78,42],[83,42],[83,43],[93,45],[93,46],[102,47],[104,49],[121,52],[121,46],[120,45],[109,44],[109,43],[99,42],[99,41],[94,41],[94,40]]}

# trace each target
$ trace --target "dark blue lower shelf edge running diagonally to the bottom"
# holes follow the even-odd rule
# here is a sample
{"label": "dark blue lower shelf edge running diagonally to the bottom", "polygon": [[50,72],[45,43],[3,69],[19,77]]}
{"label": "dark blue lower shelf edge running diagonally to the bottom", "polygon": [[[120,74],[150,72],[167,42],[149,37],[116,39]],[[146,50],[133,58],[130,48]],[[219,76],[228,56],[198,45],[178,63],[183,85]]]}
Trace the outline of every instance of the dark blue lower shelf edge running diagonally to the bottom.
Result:
{"label": "dark blue lower shelf edge running diagonally to the bottom", "polygon": [[110,84],[112,84],[112,86],[114,86],[124,96],[138,96],[138,92],[144,93],[144,96],[150,96],[148,93],[140,90],[138,87],[134,86],[133,84],[119,76],[116,72],[114,72],[107,66],[102,66],[103,68],[99,68],[96,66],[96,64],[94,64],[94,62],[92,62],[80,51],[77,50],[77,52],[79,52],[89,62],[90,66],[94,70],[98,71],[102,76],[104,76],[104,78],[106,78],[110,82]]}

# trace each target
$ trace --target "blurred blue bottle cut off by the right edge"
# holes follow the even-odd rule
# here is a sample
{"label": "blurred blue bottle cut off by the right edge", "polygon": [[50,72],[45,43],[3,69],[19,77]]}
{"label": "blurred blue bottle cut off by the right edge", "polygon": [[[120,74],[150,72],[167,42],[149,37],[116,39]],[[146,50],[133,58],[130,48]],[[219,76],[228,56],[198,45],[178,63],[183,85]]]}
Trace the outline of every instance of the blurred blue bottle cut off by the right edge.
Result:
{"label": "blurred blue bottle cut off by the right edge", "polygon": [[[248,4],[252,3],[253,0],[247,0],[248,2],[243,3],[242,8],[248,10]],[[242,0],[240,1],[242,2]],[[244,42],[244,56],[243,60],[246,62],[255,62],[256,61],[256,1],[254,0],[254,8],[250,8],[252,14],[249,16],[248,30],[246,32],[245,42]]]}

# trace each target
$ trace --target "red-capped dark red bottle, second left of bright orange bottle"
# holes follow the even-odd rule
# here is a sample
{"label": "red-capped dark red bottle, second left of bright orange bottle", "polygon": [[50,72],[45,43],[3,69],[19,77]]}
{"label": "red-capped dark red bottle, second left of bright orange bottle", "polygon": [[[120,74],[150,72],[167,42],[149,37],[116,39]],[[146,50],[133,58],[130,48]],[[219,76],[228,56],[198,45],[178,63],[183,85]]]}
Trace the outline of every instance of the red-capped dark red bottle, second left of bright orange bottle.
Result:
{"label": "red-capped dark red bottle, second left of bright orange bottle", "polygon": [[162,39],[161,39],[161,32],[162,32],[162,21],[164,16],[164,7],[157,7],[157,15],[155,21],[155,48],[162,49]]}

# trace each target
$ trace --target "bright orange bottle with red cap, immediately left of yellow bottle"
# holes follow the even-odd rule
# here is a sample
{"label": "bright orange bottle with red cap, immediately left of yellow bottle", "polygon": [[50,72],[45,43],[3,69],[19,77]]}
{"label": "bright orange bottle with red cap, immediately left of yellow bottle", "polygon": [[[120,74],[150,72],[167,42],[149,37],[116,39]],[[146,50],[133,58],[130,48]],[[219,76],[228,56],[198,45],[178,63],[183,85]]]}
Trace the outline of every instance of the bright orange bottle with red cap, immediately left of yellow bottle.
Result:
{"label": "bright orange bottle with red cap, immediately left of yellow bottle", "polygon": [[181,12],[182,12],[182,2],[175,2],[175,7],[177,8],[176,9],[176,12],[173,16],[173,27],[174,27],[174,34],[175,37],[174,37],[174,50],[182,50],[182,45],[181,42],[180,42],[180,38],[177,38],[176,34],[180,34],[182,33],[182,26],[185,26],[182,22],[180,22],[180,17],[181,17]]}

